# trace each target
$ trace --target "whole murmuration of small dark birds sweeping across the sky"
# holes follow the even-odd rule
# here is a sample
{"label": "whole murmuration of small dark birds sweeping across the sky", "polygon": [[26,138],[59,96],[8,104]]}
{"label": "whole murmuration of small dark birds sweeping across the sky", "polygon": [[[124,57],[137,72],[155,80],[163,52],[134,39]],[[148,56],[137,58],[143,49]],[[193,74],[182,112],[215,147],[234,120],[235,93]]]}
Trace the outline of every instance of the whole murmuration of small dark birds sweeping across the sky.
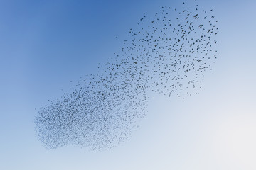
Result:
{"label": "whole murmuration of small dark birds sweeping across the sky", "polygon": [[38,111],[38,139],[46,149],[119,145],[146,114],[149,91],[179,97],[198,93],[216,59],[217,22],[212,10],[198,4],[190,10],[163,6],[151,17],[144,13],[97,74]]}

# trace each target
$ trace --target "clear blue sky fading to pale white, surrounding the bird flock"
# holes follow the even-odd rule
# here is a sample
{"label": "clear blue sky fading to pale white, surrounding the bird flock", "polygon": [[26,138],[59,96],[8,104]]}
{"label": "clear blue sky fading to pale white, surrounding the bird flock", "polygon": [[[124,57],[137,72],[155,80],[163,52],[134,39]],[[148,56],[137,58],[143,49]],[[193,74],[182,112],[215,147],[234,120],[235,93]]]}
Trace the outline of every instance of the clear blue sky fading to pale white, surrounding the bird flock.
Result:
{"label": "clear blue sky fading to pale white, surrounding the bird flock", "polygon": [[181,1],[1,0],[0,169],[256,169],[256,1],[199,4],[213,8],[220,29],[200,94],[154,96],[140,130],[97,152],[44,149],[35,108],[97,72],[144,12]]}

